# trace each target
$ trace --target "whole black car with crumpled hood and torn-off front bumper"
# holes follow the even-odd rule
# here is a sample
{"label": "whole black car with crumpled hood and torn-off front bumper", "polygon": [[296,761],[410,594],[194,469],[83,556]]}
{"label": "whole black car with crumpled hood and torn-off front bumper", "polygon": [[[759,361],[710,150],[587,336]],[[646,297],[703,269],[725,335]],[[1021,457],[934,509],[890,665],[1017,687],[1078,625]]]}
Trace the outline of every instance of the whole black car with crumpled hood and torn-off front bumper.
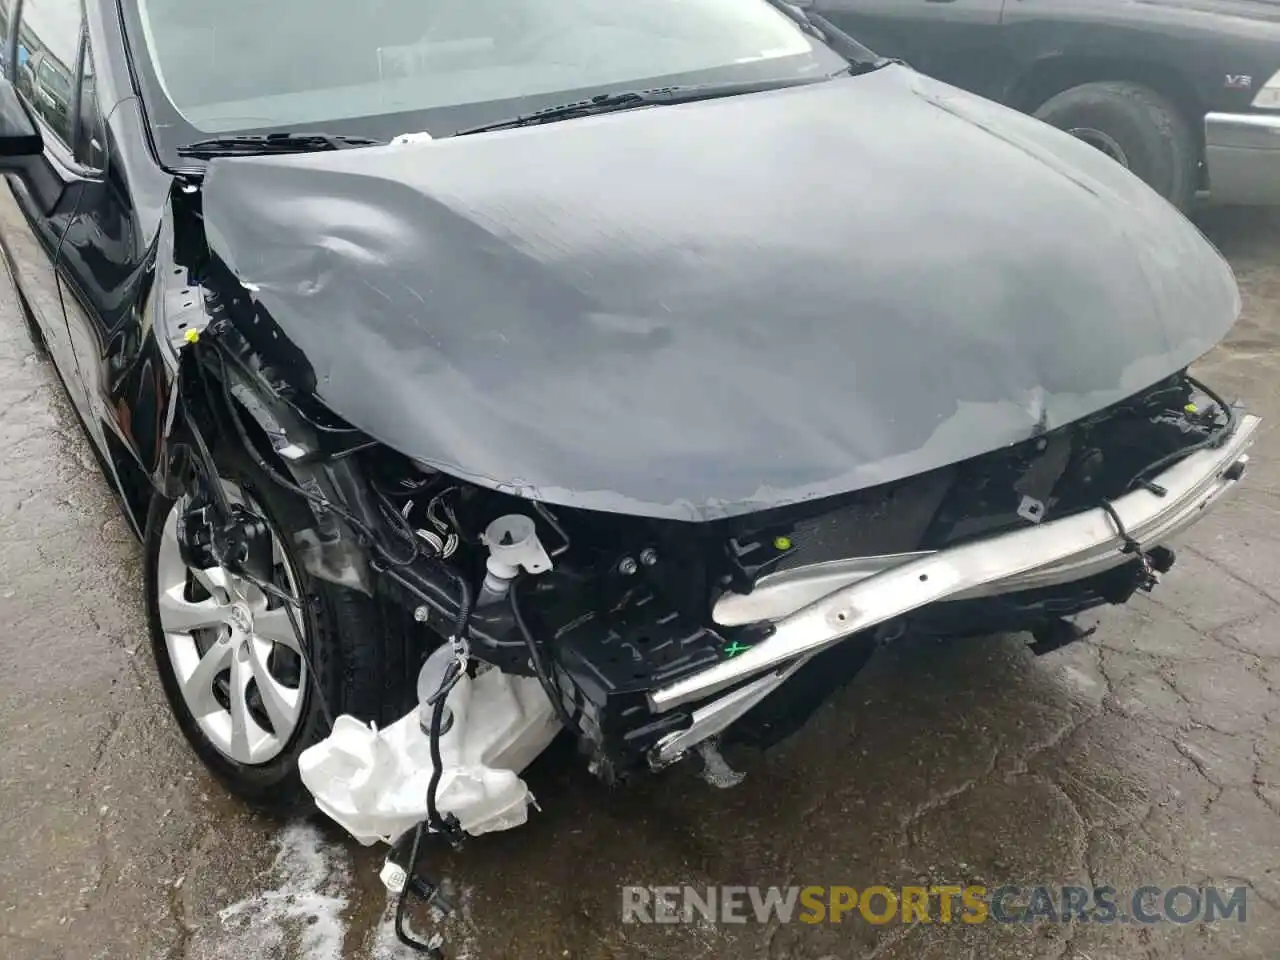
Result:
{"label": "whole black car with crumpled hood and torn-off front bumper", "polygon": [[251,801],[513,827],[562,731],[620,782],[1069,643],[1244,474],[1201,233],[787,4],[10,6],[5,257]]}

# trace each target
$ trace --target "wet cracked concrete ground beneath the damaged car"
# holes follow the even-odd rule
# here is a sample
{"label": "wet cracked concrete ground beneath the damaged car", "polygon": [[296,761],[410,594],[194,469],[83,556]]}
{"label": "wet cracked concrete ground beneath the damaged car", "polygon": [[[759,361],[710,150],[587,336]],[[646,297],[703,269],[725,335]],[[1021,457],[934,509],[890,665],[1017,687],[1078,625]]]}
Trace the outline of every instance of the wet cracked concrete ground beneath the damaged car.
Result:
{"label": "wet cracked concrete ground beneath the damaged car", "polygon": [[[433,852],[456,956],[1280,956],[1280,215],[1204,229],[1244,317],[1202,366],[1267,424],[1243,494],[1151,598],[1036,659],[905,640],[717,791],[609,792],[563,754],[543,813]],[[143,641],[140,553],[0,291],[0,956],[387,960],[380,859],[204,774]],[[1244,883],[1248,922],[623,927],[623,883]],[[419,929],[433,919],[415,914]]]}

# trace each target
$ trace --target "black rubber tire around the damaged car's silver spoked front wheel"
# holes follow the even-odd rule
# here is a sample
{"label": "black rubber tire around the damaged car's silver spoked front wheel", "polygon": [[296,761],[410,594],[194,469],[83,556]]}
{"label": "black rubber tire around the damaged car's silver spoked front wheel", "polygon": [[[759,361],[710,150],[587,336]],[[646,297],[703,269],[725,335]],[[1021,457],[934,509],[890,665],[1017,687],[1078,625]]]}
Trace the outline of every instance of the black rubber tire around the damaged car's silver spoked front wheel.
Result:
{"label": "black rubber tire around the damaged car's silver spoked front wheel", "polygon": [[[383,603],[334,584],[308,577],[293,550],[292,534],[311,526],[310,508],[283,490],[243,453],[215,453],[219,472],[261,504],[269,522],[282,534],[282,547],[298,577],[303,600],[307,657],[314,680],[324,691],[333,717],[343,713],[379,727],[403,717],[416,700],[417,669],[424,645],[407,630],[402,617]],[[146,612],[152,653],[165,696],[192,749],[227,788],[247,803],[271,813],[310,809],[311,796],[298,774],[298,755],[329,732],[316,682],[307,682],[302,713],[284,749],[271,760],[247,765],[220,751],[196,723],[178,685],[160,626],[157,558],[165,520],[173,500],[152,498],[145,536]]]}

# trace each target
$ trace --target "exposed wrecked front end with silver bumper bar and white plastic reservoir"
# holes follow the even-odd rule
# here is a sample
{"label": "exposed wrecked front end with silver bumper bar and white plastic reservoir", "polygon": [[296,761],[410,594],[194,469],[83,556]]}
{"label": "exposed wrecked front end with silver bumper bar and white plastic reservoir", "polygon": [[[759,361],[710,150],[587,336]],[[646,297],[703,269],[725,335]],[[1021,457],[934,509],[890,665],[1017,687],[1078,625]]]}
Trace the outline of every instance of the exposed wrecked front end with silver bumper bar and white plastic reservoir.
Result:
{"label": "exposed wrecked front end with silver bumper bar and white plastic reservoir", "polygon": [[266,360],[280,344],[243,333],[255,324],[233,320],[236,298],[210,292],[204,307],[207,323],[170,342],[183,559],[305,612],[269,582],[265,517],[220,492],[211,448],[230,443],[310,508],[293,531],[306,572],[375,598],[416,640],[403,680],[417,705],[381,730],[324,705],[329,733],[298,769],[357,841],[390,845],[398,936],[434,956],[403,920],[411,895],[438,895],[417,873],[424,838],[525,823],[536,800],[520,774],[562,731],[608,783],[690,753],[732,783],[721,737],[786,736],[909,630],[1029,631],[1036,653],[1071,643],[1074,614],[1172,566],[1162,540],[1239,480],[1258,422],[1180,371],[893,483],[703,522],[630,516],[398,453],[282,376]]}

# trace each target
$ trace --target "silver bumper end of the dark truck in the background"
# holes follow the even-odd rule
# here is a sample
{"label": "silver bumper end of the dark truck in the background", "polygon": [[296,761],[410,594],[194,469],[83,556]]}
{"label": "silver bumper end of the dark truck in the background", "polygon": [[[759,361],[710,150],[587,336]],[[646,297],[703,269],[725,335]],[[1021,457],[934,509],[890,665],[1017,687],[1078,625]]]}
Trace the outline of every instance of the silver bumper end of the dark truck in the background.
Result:
{"label": "silver bumper end of the dark truck in the background", "polygon": [[1280,204],[1280,115],[1204,118],[1210,197],[1221,204]]}

